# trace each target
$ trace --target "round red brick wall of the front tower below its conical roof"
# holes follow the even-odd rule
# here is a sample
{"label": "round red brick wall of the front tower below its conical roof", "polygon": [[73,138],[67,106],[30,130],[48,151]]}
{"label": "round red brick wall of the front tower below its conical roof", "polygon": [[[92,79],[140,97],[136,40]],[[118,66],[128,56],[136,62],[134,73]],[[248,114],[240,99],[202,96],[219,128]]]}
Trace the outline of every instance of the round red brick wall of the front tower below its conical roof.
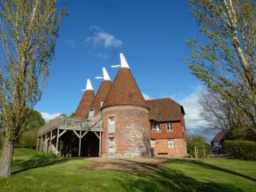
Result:
{"label": "round red brick wall of the front tower below its conical roof", "polygon": [[[110,106],[102,110],[102,156],[108,156],[109,138],[114,137],[114,156],[148,155],[149,111],[140,106]],[[114,117],[114,134],[108,134],[108,119]]]}

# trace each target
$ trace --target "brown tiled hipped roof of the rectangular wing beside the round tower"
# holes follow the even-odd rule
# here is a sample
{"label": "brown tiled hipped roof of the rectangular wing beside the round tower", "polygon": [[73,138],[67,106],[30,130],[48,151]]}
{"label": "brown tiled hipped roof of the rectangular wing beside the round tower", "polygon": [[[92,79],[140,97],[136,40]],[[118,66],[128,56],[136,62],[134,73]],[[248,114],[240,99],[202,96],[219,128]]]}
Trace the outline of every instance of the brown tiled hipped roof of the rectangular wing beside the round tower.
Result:
{"label": "brown tiled hipped roof of the rectangular wing beside the round tower", "polygon": [[180,121],[185,114],[183,107],[171,98],[146,100],[150,108],[150,120],[157,122]]}

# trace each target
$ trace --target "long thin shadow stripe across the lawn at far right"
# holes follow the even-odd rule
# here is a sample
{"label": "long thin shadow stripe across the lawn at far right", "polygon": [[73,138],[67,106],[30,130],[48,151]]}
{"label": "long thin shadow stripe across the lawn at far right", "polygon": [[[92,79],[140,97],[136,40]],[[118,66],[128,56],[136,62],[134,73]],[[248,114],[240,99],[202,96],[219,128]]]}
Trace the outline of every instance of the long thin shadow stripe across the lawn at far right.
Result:
{"label": "long thin shadow stripe across the lawn at far right", "polygon": [[201,161],[197,161],[197,160],[189,160],[189,159],[175,159],[172,160],[171,162],[178,162],[178,163],[190,163],[196,166],[200,166],[202,168],[206,168],[206,169],[210,169],[210,170],[219,170],[228,174],[234,174],[236,176],[242,177],[242,178],[246,178],[249,179],[250,181],[256,182],[256,178],[251,178],[250,176],[247,176],[245,174],[240,174],[238,172],[235,172],[234,170],[228,170],[219,166],[214,166],[211,164],[208,164],[206,162],[201,162]]}

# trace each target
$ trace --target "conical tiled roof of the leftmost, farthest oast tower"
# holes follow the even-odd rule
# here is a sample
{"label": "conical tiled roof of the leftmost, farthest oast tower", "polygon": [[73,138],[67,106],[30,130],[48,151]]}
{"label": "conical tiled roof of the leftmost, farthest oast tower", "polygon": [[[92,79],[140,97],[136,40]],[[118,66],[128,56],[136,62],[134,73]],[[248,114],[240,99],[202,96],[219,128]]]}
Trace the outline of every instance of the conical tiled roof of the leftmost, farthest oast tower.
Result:
{"label": "conical tiled roof of the leftmost, farthest oast tower", "polygon": [[86,90],[74,113],[74,118],[87,118],[90,106],[93,104],[95,98],[94,90]]}

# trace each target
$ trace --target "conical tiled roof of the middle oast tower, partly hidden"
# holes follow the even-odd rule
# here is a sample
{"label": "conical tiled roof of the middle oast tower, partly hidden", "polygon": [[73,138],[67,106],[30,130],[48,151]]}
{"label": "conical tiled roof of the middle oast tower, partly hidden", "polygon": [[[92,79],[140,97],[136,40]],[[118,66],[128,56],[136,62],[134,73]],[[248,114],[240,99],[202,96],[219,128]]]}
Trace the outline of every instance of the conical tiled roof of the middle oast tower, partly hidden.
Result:
{"label": "conical tiled roof of the middle oast tower, partly hidden", "polygon": [[94,103],[91,106],[91,108],[94,108],[95,114],[98,114],[98,112],[101,110],[101,102],[105,101],[106,96],[110,91],[110,87],[111,87],[111,81],[106,81],[106,80],[103,80],[101,85],[99,86],[98,92],[94,99]]}

